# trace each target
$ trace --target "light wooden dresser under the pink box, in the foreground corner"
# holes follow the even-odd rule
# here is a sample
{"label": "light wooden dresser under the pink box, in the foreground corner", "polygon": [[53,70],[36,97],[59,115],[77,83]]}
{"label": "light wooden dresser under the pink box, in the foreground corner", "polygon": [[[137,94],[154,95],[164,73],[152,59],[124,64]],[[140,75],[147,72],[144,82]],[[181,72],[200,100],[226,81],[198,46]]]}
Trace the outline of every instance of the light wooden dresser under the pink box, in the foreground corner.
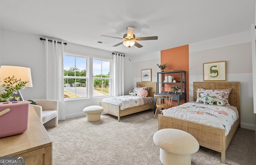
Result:
{"label": "light wooden dresser under the pink box, in the foreground corner", "polygon": [[24,133],[0,138],[0,157],[25,157],[26,165],[52,165],[52,139],[32,106],[28,118]]}

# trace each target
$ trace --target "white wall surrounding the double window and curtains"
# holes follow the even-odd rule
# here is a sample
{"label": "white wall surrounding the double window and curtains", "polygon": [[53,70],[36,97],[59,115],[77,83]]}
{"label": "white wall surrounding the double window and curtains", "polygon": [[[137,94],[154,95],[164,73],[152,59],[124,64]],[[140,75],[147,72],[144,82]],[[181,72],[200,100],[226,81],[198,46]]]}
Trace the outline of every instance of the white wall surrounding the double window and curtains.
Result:
{"label": "white wall surrounding the double window and curtains", "polygon": [[[14,65],[31,68],[33,87],[22,89],[21,93],[25,100],[44,98],[44,42],[39,38],[42,36],[24,34],[11,30],[1,29],[0,36],[0,65]],[[112,59],[112,52],[89,48],[77,44],[68,43],[64,45],[64,52],[77,53],[86,56]],[[130,60],[128,60],[130,59]],[[125,93],[133,87],[133,58],[125,55]],[[132,72],[130,72],[132,70]],[[102,97],[68,100],[65,101],[66,118],[84,115],[84,107],[89,105],[99,105]]]}

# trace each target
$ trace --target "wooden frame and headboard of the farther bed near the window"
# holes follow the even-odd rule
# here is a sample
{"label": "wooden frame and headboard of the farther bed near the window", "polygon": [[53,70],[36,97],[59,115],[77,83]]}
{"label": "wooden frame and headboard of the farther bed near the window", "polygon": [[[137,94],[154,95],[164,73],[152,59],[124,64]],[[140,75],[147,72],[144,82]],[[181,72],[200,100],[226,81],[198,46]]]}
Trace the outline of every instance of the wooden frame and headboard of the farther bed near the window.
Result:
{"label": "wooden frame and headboard of the farther bed near the window", "polygon": [[[154,97],[154,93],[156,93],[156,82],[137,82],[136,85],[137,85],[137,87],[138,86],[141,86],[141,87],[149,86],[148,96]],[[118,117],[118,121],[120,121],[120,117],[122,117],[122,116],[130,115],[132,113],[137,113],[140,111],[145,111],[145,110],[154,108],[154,103],[140,105],[137,107],[130,107],[130,108],[123,109],[123,110],[120,110],[119,105],[104,103],[102,101],[100,101],[100,106],[102,106],[104,108],[103,112]]]}

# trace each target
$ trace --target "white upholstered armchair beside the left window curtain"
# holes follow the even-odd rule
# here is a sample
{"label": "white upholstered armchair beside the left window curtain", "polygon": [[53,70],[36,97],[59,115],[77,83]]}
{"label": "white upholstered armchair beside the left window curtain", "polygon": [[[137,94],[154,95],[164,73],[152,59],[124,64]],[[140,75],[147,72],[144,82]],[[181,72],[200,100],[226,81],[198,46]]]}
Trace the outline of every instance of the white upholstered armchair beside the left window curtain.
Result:
{"label": "white upholstered armchair beside the left window curtain", "polygon": [[39,119],[44,127],[57,127],[58,125],[58,101],[50,99],[33,99],[36,105],[34,107]]}

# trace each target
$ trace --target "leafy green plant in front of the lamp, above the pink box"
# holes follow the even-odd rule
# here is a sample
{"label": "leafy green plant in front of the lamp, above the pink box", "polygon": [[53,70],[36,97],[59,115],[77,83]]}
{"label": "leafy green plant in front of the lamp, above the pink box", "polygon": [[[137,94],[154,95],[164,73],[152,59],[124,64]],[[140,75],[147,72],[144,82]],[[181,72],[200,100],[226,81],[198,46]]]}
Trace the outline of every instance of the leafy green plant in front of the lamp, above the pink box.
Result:
{"label": "leafy green plant in front of the lamp, above the pink box", "polygon": [[[0,80],[0,82],[2,82]],[[20,96],[13,95],[17,93],[18,90],[25,88],[24,86],[28,82],[17,80],[14,76],[4,79],[4,83],[0,85],[0,101],[5,102],[9,99],[20,100]]]}

